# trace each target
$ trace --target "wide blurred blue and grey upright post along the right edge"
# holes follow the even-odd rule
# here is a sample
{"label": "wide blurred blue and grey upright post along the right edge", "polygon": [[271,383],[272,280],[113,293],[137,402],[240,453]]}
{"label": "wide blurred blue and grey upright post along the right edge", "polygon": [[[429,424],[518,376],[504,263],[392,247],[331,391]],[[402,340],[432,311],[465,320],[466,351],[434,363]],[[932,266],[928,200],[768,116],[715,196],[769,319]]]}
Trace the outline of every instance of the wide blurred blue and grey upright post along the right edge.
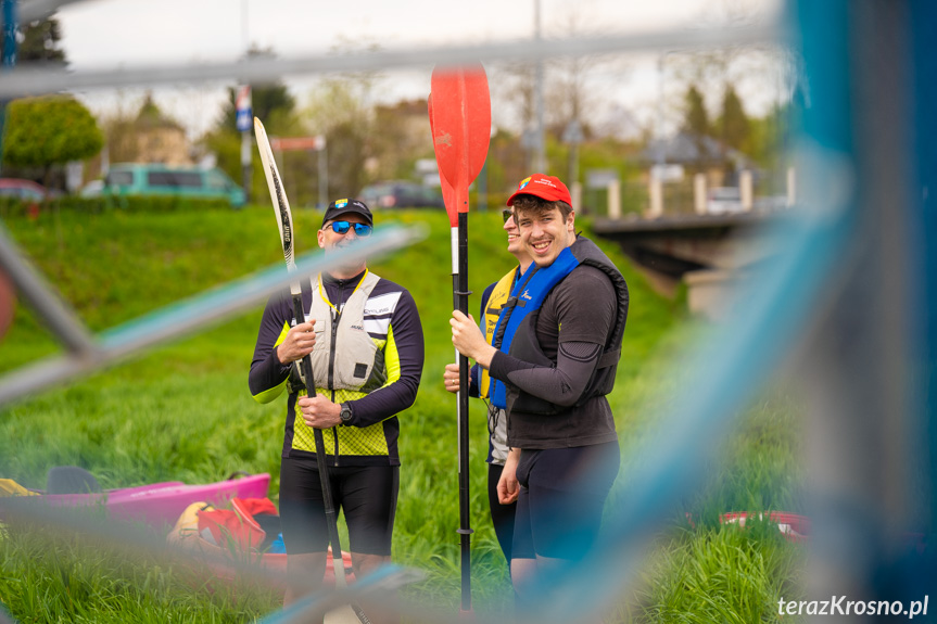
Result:
{"label": "wide blurred blue and grey upright post along the right edge", "polygon": [[811,406],[809,600],[907,604],[933,589],[934,553],[917,552],[914,534],[932,533],[937,476],[933,442],[927,448],[933,382],[922,380],[934,374],[935,352],[926,207],[937,133],[925,122],[934,8],[795,3],[810,80],[803,140],[838,153],[854,188],[850,244],[815,306],[801,367]]}

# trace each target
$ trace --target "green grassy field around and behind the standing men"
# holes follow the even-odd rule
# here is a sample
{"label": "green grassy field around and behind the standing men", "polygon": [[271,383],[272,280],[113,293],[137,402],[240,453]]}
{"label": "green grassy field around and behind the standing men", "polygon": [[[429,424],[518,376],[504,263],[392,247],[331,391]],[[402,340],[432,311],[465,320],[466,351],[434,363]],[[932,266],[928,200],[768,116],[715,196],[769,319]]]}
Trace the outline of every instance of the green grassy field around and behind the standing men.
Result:
{"label": "green grassy field around and behind the standing men", "polygon": [[[299,246],[315,244],[321,215],[294,215]],[[402,416],[401,495],[394,560],[427,572],[405,595],[454,609],[458,602],[455,399],[442,389],[453,357],[448,339],[452,280],[448,222],[442,213],[378,215],[378,225],[425,222],[430,237],[375,271],[413,293],[427,341],[416,405]],[[269,207],[43,213],[11,217],[5,227],[48,280],[94,331],[230,279],[282,262]],[[587,224],[582,224],[586,228]],[[597,241],[622,268],[631,309],[615,393],[623,456],[664,413],[680,380],[682,352],[706,331],[682,302],[659,297],[613,245]],[[484,286],[510,267],[497,214],[470,219],[470,286]],[[473,295],[470,309],[478,308]],[[282,445],[282,402],[259,406],[246,374],[262,307],[224,326],[161,347],[66,387],[50,389],[0,409],[0,477],[45,486],[50,467],[75,464],[104,487],[166,480],[224,479],[236,470],[269,472],[276,500]],[[0,372],[58,349],[26,308],[18,307],[0,342]],[[511,601],[507,571],[488,519],[485,418],[472,402],[471,474],[476,610],[503,612]],[[775,621],[778,596],[797,596],[798,547],[767,527],[721,527],[733,510],[796,510],[801,479],[800,410],[790,393],[761,395],[726,442],[708,487],[675,514],[651,548],[642,580],[609,615],[621,622]],[[695,529],[684,512],[698,519]],[[345,544],[347,542],[345,540]],[[0,602],[24,622],[251,622],[277,608],[265,591],[193,588],[159,557],[128,562],[119,545],[59,535],[51,543],[10,525],[0,538]]]}

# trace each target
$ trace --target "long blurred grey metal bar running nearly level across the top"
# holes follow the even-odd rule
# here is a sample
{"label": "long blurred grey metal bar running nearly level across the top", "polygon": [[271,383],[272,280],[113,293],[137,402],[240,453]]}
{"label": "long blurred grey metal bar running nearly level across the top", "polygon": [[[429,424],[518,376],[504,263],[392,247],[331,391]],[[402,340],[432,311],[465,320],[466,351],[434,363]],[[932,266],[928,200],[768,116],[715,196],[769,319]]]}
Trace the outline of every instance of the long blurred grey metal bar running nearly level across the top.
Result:
{"label": "long blurred grey metal bar running nearly level across the top", "polygon": [[63,69],[18,69],[5,76],[0,82],[0,98],[12,99],[60,91],[192,84],[206,80],[237,79],[243,84],[264,85],[288,75],[428,67],[433,64],[456,66],[479,61],[537,61],[586,54],[764,46],[784,39],[784,33],[776,25],[758,24],[699,30],[669,29],[650,34],[619,34],[565,40],[521,40],[479,46],[413,48],[346,56],[315,54],[295,59],[250,59],[219,64],[188,63],[76,73],[67,73]]}

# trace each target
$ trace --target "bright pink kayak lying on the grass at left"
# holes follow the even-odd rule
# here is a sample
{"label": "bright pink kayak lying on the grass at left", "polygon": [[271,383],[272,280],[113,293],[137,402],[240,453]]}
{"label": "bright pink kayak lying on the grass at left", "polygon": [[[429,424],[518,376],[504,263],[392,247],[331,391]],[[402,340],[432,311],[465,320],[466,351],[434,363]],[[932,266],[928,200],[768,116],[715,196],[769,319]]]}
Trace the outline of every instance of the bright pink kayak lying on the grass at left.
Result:
{"label": "bright pink kayak lying on the grass at left", "polygon": [[29,500],[42,500],[53,507],[103,505],[114,520],[145,522],[167,531],[193,502],[224,507],[233,498],[264,498],[269,485],[270,475],[262,473],[202,485],[168,481],[92,494],[46,494],[29,497]]}

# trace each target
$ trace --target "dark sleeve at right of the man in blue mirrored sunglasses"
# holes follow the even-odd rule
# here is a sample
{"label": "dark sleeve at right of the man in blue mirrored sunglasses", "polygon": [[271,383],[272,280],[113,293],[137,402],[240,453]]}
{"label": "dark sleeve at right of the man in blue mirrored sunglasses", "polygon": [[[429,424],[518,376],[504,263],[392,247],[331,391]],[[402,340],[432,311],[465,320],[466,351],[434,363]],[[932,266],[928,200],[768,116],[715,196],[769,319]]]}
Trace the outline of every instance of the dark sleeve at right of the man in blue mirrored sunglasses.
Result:
{"label": "dark sleeve at right of the man in blue mirrored sunglasses", "polygon": [[404,290],[391,317],[388,351],[396,352],[400,377],[372,393],[349,402],[352,426],[368,426],[410,407],[423,371],[423,330],[413,295]]}

